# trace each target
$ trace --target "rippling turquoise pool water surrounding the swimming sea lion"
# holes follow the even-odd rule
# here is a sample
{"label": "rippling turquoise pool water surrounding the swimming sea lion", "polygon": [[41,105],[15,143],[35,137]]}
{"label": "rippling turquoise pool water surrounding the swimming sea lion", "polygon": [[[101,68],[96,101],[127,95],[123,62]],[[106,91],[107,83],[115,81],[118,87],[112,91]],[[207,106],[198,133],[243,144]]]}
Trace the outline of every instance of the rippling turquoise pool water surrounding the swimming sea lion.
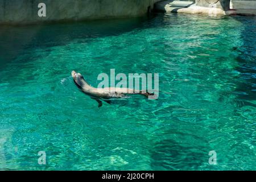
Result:
{"label": "rippling turquoise pool water surrounding the swimming sea lion", "polygon": [[[255,32],[253,16],[176,14],[0,27],[0,168],[255,170]],[[159,73],[159,99],[98,108],[71,78],[112,68]]]}

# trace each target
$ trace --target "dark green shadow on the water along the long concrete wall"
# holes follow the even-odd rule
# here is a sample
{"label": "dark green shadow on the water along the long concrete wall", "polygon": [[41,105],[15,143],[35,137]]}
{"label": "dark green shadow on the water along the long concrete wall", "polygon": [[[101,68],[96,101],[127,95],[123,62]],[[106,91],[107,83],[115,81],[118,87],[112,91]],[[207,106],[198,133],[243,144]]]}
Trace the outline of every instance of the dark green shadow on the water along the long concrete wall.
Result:
{"label": "dark green shadow on the water along the long concrete wall", "polygon": [[[88,20],[84,22],[32,24],[28,26],[1,26],[0,63],[15,60],[28,50],[64,46],[78,40],[82,43],[104,36],[117,36],[141,28],[149,17]],[[31,60],[30,60],[31,61]]]}

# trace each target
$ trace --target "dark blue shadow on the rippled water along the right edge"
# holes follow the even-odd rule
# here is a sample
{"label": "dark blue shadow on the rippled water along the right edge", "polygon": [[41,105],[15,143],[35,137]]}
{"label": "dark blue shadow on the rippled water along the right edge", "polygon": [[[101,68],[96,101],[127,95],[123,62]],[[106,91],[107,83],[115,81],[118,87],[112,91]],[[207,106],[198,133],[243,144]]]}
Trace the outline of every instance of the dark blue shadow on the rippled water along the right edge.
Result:
{"label": "dark blue shadow on the rippled water along the right edge", "polygon": [[242,82],[240,82],[234,91],[237,94],[237,100],[241,101],[241,105],[253,105],[246,101],[255,101],[256,96],[256,18],[255,16],[233,16],[234,19],[243,24],[241,31],[241,39],[243,44],[241,47],[234,47],[234,51],[238,52],[236,61],[238,67],[236,70],[240,72]]}

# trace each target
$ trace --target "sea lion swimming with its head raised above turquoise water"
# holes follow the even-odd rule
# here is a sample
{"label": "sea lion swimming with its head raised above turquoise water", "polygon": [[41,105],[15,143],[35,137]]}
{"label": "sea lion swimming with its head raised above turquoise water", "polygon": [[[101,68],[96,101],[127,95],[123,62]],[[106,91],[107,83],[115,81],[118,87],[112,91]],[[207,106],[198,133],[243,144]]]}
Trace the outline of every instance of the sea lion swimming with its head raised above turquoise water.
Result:
{"label": "sea lion swimming with its head raised above turquoise water", "polygon": [[102,106],[101,100],[111,104],[111,98],[123,98],[126,96],[126,94],[142,94],[146,97],[154,95],[146,92],[145,90],[136,90],[130,88],[94,88],[85,81],[84,77],[80,73],[72,71],[71,75],[76,86],[83,93],[96,100],[98,102],[98,107]]}

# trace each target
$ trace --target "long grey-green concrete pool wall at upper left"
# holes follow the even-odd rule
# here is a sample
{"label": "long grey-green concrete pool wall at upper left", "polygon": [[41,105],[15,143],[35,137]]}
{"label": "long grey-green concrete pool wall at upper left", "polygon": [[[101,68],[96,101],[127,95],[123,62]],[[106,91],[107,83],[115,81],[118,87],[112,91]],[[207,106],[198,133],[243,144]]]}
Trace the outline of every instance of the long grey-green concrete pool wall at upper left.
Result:
{"label": "long grey-green concrete pool wall at upper left", "polygon": [[[59,20],[103,19],[146,14],[160,0],[0,0],[0,23],[26,24]],[[46,17],[38,4],[46,4]]]}

